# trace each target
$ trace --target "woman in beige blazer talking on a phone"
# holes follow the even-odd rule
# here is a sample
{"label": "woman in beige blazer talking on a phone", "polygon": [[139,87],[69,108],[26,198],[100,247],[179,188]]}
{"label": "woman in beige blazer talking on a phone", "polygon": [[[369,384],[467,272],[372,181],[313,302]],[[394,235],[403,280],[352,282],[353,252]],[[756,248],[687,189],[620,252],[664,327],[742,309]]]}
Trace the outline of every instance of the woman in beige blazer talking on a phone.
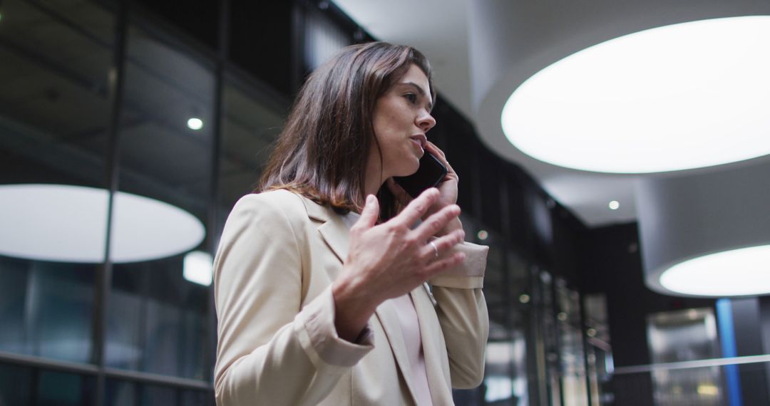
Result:
{"label": "woman in beige blazer talking on a phone", "polygon": [[[427,141],[434,95],[423,55],[383,42],[310,75],[216,254],[217,404],[451,404],[480,384],[487,248],[463,242]],[[449,171],[410,201],[392,178],[426,150]]]}

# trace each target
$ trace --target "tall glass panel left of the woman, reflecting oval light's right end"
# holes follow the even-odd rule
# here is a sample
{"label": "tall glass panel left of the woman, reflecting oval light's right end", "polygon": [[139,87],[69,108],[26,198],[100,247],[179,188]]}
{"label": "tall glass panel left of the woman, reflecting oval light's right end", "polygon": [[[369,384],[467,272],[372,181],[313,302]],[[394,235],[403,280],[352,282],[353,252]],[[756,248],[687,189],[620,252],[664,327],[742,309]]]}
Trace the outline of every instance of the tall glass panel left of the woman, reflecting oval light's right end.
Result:
{"label": "tall glass panel left of the woman, reflecting oval light's right end", "polygon": [[209,286],[191,278],[185,255],[210,255],[213,69],[129,27],[125,85],[119,191],[152,210],[115,205],[106,363],[203,380]]}

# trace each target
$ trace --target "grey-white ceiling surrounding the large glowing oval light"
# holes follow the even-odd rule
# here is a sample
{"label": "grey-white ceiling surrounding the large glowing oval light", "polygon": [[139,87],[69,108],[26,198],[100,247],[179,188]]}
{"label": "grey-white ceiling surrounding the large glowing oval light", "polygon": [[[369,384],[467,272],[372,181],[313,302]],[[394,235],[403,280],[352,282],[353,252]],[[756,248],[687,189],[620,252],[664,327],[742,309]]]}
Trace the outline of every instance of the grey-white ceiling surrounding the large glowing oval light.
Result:
{"label": "grey-white ceiling surrounding the large glowing oval light", "polygon": [[[588,227],[637,221],[634,190],[654,175],[604,174],[537,161],[504,137],[504,102],[529,76],[588,46],[647,28],[737,15],[770,14],[770,5],[741,1],[525,2],[522,0],[334,0],[383,41],[413,45],[430,59],[441,95],[477,128],[501,158],[528,171]],[[767,160],[767,157],[755,158]],[[742,164],[738,164],[742,165]],[[730,165],[692,171],[718,171]],[[611,210],[610,201],[620,202]]]}

